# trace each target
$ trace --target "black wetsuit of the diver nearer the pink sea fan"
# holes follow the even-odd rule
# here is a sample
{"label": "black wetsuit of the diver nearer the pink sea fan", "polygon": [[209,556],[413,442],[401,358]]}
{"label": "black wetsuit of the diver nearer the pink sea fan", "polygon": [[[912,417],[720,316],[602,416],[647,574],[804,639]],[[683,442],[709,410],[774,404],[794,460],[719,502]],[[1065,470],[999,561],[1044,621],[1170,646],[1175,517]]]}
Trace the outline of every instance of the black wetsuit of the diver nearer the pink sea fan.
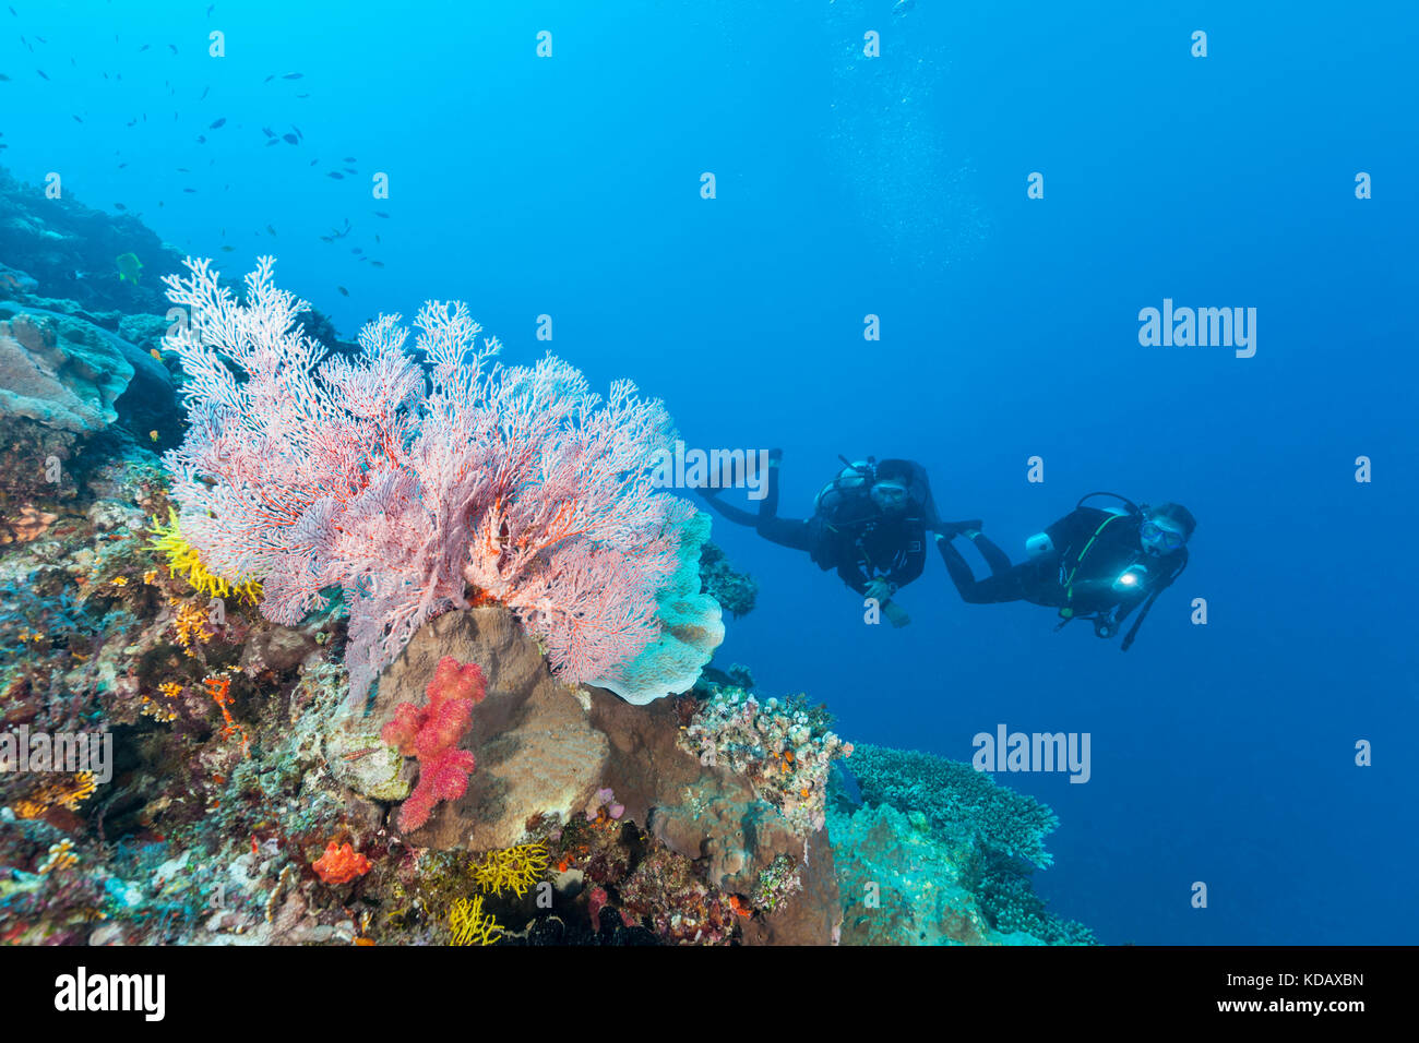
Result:
{"label": "black wetsuit of the diver nearer the pink sea fan", "polygon": [[900,514],[887,514],[866,494],[854,505],[854,517],[829,521],[815,514],[807,521],[779,518],[779,468],[771,467],[768,488],[758,515],[722,502],[701,490],[710,505],[739,525],[752,525],[761,536],[779,546],[807,551],[823,572],[837,575],[853,590],[867,593],[873,579],[887,580],[893,592],[921,575],[927,563],[927,519],[914,501]]}

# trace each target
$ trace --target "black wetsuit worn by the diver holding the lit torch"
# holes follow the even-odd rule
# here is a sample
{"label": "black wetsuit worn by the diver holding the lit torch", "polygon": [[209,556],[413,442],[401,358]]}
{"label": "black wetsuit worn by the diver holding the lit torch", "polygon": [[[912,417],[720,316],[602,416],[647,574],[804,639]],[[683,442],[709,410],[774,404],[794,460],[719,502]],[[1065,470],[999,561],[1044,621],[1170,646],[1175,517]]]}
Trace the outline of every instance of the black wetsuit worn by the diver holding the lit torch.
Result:
{"label": "black wetsuit worn by the diver holding the lit torch", "polygon": [[[1000,548],[978,535],[972,542],[990,565],[990,576],[976,579],[949,541],[938,541],[961,597],[972,605],[1030,602],[1069,610],[1069,616],[1110,614],[1117,624],[1154,593],[1176,579],[1188,561],[1186,548],[1152,556],[1142,549],[1142,518],[1080,507],[1044,529],[1054,549],[1020,565],[1010,565]],[[1115,590],[1131,565],[1147,573],[1135,586]],[[1061,612],[1061,614],[1064,614]]]}

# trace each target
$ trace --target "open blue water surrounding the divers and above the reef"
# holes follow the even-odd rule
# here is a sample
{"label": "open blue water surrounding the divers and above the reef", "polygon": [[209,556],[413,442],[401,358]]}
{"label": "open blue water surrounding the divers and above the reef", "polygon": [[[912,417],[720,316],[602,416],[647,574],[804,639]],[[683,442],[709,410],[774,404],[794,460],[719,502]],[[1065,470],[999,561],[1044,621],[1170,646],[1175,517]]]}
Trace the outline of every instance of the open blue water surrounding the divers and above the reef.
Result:
{"label": "open blue water surrounding the divers and above the reef", "polygon": [[[1103,941],[1419,937],[1416,9],[603,7],[16,0],[0,162],[227,274],[272,253],[346,335],[464,298],[509,359],[636,379],[690,446],[782,447],[785,514],[840,453],[922,461],[1016,558],[1095,488],[1186,504],[1192,565],[1128,654],[964,605],[935,555],[911,626],[866,626],[833,573],[717,521],[761,583],[718,661],[856,741],[1090,732],[1087,785],[1002,780],[1059,812],[1036,887]],[[1256,356],[1139,346],[1165,297],[1257,308]]]}

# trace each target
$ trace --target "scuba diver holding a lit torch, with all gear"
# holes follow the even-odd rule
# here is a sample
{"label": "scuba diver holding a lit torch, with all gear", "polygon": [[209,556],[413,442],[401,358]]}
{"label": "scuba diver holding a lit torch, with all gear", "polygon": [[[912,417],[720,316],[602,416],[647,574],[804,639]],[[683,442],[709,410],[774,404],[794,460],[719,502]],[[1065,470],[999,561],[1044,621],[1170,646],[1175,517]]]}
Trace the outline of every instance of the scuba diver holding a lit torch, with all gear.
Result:
{"label": "scuba diver holding a lit torch, with all gear", "polygon": [[[1112,497],[1125,509],[1086,507],[1094,497]],[[1138,507],[1112,492],[1090,492],[1057,522],[1025,541],[1029,561],[1010,565],[1009,556],[979,526],[962,528],[990,566],[976,579],[965,558],[938,535],[937,548],[962,600],[971,605],[1030,602],[1059,609],[1059,630],[1074,619],[1091,619],[1094,633],[1110,639],[1139,605],[1142,610],[1124,636],[1128,651],[1138,627],[1164,590],[1188,566],[1188,539],[1198,528],[1181,504]]]}

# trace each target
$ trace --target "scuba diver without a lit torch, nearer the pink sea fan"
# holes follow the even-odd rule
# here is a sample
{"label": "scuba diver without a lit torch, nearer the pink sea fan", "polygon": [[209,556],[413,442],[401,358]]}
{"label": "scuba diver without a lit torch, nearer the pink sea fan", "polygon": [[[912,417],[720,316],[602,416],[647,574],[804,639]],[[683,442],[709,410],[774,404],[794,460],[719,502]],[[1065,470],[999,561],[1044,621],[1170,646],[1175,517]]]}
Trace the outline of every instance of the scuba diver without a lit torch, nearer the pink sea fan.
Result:
{"label": "scuba diver without a lit torch, nearer the pink sea fan", "polygon": [[927,531],[955,535],[964,528],[978,529],[981,522],[942,522],[927,471],[915,461],[840,460],[847,465],[819,491],[806,521],[779,518],[782,450],[769,451],[768,488],[758,514],[725,504],[710,488],[701,487],[700,495],[736,525],[751,525],[779,546],[807,551],[824,572],[837,569],[847,586],[877,600],[893,626],[907,626],[911,616],[893,597],[921,575]]}

